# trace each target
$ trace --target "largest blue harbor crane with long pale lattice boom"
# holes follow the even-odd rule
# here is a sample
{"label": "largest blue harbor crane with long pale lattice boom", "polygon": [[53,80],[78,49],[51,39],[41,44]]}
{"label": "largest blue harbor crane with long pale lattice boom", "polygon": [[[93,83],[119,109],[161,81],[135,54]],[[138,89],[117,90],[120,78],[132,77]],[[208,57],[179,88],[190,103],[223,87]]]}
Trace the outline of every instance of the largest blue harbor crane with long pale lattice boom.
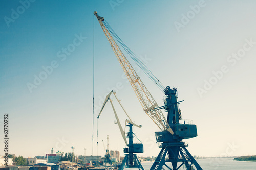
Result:
{"label": "largest blue harbor crane with long pale lattice boom", "polygon": [[[185,121],[181,120],[181,110],[178,104],[182,101],[178,101],[177,88],[165,87],[161,82],[148,70],[145,65],[136,57],[136,55],[127,47],[124,42],[118,37],[115,31],[110,27],[105,19],[94,12],[94,15],[99,21],[99,24],[108,39],[112,50],[114,51],[126,77],[133,87],[137,98],[145,111],[145,113],[153,120],[157,127],[161,130],[155,132],[156,141],[160,143],[161,151],[158,154],[155,162],[153,163],[151,170],[160,169],[202,169],[193,156],[186,149],[186,144],[182,142],[183,139],[189,139],[197,136],[197,127],[193,124],[185,124]],[[147,90],[136,71],[124,56],[115,39],[121,44],[127,54],[140,66],[145,74],[164,92],[164,106],[159,107],[154,100],[151,93]],[[162,113],[161,109],[167,111],[167,119]],[[168,156],[168,159],[165,157]],[[170,162],[172,168],[167,165]],[[179,163],[179,164],[178,164]],[[185,166],[185,167],[184,167]],[[164,168],[165,167],[165,168]]]}

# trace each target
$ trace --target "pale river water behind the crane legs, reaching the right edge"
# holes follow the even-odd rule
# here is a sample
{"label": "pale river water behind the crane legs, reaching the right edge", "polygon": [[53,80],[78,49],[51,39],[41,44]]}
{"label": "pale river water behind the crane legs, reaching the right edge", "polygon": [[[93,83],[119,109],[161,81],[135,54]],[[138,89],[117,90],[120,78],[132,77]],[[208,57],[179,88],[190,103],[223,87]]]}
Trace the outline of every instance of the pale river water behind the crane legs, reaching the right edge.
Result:
{"label": "pale river water behind the crane legs, reaching the right edge", "polygon": [[[197,162],[204,170],[227,170],[227,169],[256,170],[256,162],[234,161],[233,158],[197,159]],[[145,170],[149,170],[153,164],[153,161],[142,162],[141,164]],[[172,167],[170,163],[167,163],[167,165]],[[164,169],[166,168],[164,167]],[[183,169],[183,168],[180,168],[180,169]]]}

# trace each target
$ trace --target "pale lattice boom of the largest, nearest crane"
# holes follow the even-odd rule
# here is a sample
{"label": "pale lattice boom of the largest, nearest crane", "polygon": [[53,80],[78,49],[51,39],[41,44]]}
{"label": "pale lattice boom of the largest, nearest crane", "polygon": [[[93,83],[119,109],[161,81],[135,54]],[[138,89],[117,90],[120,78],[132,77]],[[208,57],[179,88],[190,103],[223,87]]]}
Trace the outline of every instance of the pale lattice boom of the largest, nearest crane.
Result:
{"label": "pale lattice boom of the largest, nearest crane", "polygon": [[141,81],[140,77],[137,75],[136,71],[124,56],[122,51],[120,50],[119,46],[111,36],[108,29],[106,29],[103,21],[104,18],[100,17],[97,12],[94,12],[94,15],[97,17],[100,26],[108,39],[119,63],[121,64],[123,71],[125,72],[126,77],[128,78],[129,82],[131,83],[134,92],[139,99],[141,106],[145,113],[153,120],[153,122],[160,128],[162,131],[167,130],[171,134],[174,134],[173,130],[169,127],[168,122],[166,121],[165,116],[163,115],[162,111],[159,109],[158,104],[154,100],[151,93],[147,90],[146,86]]}

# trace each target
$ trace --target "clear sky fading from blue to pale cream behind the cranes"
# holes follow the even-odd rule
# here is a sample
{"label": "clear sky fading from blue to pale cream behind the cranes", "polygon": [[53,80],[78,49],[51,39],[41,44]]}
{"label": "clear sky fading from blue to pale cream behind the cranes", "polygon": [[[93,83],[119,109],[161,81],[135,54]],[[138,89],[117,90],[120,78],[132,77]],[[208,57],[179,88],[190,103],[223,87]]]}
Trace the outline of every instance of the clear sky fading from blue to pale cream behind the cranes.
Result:
{"label": "clear sky fading from blue to pale cream behind the cranes", "polygon": [[[94,11],[165,86],[178,89],[182,118],[198,129],[198,137],[186,141],[192,155],[256,154],[255,1],[3,0],[0,8],[0,136],[9,114],[10,154],[34,157],[74,146],[77,155],[86,148],[86,155],[103,156],[106,135],[110,150],[122,153],[110,103],[97,120],[112,89],[142,125],[134,128],[144,144],[139,156],[160,152],[159,129],[124,78]],[[164,93],[137,72],[162,106]],[[3,155],[3,142],[0,147]]]}

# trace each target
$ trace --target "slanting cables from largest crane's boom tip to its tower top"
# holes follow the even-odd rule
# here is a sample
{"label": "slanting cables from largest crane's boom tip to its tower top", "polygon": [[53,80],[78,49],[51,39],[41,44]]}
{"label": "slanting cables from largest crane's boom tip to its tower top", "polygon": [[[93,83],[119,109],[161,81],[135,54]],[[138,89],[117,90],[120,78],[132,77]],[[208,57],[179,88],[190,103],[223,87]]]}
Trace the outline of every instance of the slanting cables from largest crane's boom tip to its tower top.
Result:
{"label": "slanting cables from largest crane's boom tip to its tower top", "polygon": [[115,33],[115,31],[111,28],[107,21],[103,21],[105,27],[111,32],[114,38],[121,44],[127,54],[135,61],[135,63],[142,69],[142,71],[147,75],[148,78],[153,81],[157,87],[163,91],[165,86],[153,75],[153,73],[145,66],[145,64],[130,50],[129,47],[125,45],[125,43],[119,38],[119,36]]}

